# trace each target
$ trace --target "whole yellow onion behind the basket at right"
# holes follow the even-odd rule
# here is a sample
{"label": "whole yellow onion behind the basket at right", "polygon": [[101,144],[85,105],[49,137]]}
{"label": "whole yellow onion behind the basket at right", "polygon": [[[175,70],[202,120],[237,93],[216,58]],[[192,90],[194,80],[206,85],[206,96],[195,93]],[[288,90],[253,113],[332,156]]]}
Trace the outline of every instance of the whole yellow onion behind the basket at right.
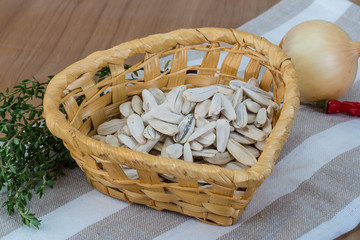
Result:
{"label": "whole yellow onion behind the basket at right", "polygon": [[300,23],[285,34],[280,47],[295,65],[302,102],[338,99],[354,83],[360,42],[334,23]]}

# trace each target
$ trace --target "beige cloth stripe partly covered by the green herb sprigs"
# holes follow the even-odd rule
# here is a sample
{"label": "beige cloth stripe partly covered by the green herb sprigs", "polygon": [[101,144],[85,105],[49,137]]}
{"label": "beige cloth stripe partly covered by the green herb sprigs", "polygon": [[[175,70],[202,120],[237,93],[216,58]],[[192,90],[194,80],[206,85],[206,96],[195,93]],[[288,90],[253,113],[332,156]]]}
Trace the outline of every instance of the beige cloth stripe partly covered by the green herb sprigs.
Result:
{"label": "beige cloth stripe partly covered by the green herb sprigs", "polygon": [[[66,175],[58,178],[53,189],[47,188],[45,190],[42,198],[33,193],[33,198],[28,207],[38,218],[93,190],[80,168],[65,169],[64,173]],[[6,192],[0,194],[1,203],[6,201],[6,194]],[[0,208],[0,237],[23,225],[19,215],[9,216],[6,208]]]}

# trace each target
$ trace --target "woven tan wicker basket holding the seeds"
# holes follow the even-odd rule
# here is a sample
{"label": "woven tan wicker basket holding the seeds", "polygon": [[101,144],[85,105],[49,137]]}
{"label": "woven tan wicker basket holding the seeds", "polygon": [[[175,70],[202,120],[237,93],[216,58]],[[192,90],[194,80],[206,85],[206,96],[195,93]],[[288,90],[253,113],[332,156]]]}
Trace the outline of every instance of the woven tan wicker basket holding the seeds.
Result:
{"label": "woven tan wicker basket holding the seeds", "polygon": [[[189,51],[204,53],[201,65],[188,66]],[[221,53],[226,57],[220,57]],[[136,54],[144,55],[144,60],[125,70],[125,60]],[[170,69],[161,71],[161,59],[169,56]],[[219,59],[223,60],[217,68]],[[247,62],[243,76],[238,74],[241,62]],[[104,66],[109,66],[111,76],[97,82],[96,73]],[[126,79],[128,73],[138,69],[144,70],[143,78]],[[153,156],[90,138],[99,124],[119,117],[119,105],[142,89],[228,84],[232,79],[247,81],[251,77],[261,78],[260,87],[272,90],[281,108],[275,113],[273,130],[258,162],[246,171]],[[81,103],[79,98],[83,99]],[[61,105],[66,116],[60,111]],[[57,74],[44,100],[48,128],[63,140],[97,190],[217,225],[234,224],[272,172],[298,106],[296,74],[289,57],[264,38],[221,28],[181,29],[95,52]],[[135,169],[139,178],[128,178],[121,168],[124,165]],[[177,182],[168,182],[161,174]],[[200,187],[198,180],[211,188]]]}

